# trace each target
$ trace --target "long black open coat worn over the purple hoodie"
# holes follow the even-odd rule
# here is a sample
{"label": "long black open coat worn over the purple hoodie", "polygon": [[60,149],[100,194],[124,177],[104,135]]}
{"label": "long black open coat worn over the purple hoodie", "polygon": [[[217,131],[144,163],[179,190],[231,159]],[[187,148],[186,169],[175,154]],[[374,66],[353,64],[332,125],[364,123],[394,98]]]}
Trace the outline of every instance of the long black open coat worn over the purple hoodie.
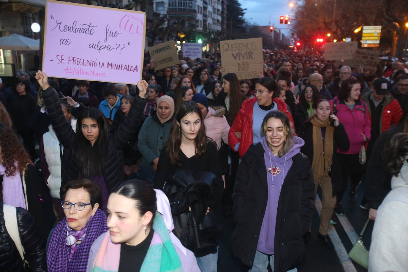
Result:
{"label": "long black open coat worn over the purple hoodie", "polygon": [[[253,265],[264,211],[268,201],[267,171],[261,143],[242,157],[233,190],[231,248],[242,263]],[[276,215],[275,265],[273,271],[288,271],[304,259],[303,235],[309,229],[313,211],[315,183],[308,158],[302,153],[292,157],[285,177]]]}

